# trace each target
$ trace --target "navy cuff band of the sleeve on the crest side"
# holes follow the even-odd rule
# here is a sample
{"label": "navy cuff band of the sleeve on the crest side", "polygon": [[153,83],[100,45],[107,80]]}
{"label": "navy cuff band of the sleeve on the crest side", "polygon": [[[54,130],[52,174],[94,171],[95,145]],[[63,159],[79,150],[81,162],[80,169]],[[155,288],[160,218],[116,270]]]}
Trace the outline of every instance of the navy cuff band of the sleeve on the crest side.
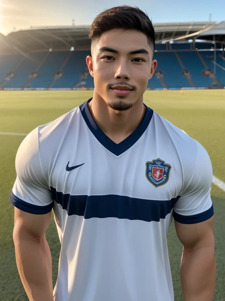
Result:
{"label": "navy cuff band of the sleeve on the crest side", "polygon": [[202,213],[196,214],[196,215],[191,215],[191,216],[190,215],[184,216],[184,215],[176,213],[173,210],[173,218],[181,224],[196,224],[196,223],[204,222],[207,219],[209,219],[210,217],[212,217],[213,214],[214,214],[213,205],[208,210],[206,210]]}

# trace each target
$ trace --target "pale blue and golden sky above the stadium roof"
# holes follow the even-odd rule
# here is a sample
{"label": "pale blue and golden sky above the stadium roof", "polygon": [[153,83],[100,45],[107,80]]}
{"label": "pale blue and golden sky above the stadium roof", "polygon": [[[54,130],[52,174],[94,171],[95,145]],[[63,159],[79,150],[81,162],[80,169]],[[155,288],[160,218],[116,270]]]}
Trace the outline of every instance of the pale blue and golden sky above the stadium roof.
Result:
{"label": "pale blue and golden sky above the stadium roof", "polygon": [[[182,4],[181,4],[182,3]],[[225,20],[224,0],[0,0],[0,33],[30,26],[91,25],[105,9],[138,6],[153,23]]]}

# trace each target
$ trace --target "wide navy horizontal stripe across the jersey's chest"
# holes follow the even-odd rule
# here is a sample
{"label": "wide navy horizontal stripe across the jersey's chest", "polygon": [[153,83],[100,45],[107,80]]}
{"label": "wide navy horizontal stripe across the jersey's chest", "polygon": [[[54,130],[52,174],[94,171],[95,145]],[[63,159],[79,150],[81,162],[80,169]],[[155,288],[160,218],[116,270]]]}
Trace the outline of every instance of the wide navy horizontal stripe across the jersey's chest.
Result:
{"label": "wide navy horizontal stripe across the jersey's chest", "polygon": [[115,194],[107,195],[70,195],[50,187],[54,200],[67,210],[68,215],[118,219],[138,219],[146,222],[159,222],[171,212],[179,196],[171,200],[144,200]]}

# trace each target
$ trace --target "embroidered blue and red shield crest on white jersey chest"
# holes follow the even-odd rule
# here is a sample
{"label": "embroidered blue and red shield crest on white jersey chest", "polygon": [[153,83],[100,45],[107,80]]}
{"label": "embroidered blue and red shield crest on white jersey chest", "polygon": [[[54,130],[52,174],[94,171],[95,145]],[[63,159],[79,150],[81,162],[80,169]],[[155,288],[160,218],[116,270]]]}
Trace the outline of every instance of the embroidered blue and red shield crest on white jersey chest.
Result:
{"label": "embroidered blue and red shield crest on white jersey chest", "polygon": [[161,159],[146,162],[146,178],[155,187],[162,186],[169,180],[171,165]]}

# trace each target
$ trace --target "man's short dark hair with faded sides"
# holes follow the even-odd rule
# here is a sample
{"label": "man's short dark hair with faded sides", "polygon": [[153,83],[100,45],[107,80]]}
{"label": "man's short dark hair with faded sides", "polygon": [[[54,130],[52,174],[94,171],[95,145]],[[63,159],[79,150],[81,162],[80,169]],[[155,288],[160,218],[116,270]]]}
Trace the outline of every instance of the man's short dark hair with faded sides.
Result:
{"label": "man's short dark hair with faded sides", "polygon": [[91,42],[100,39],[101,35],[108,30],[136,29],[147,36],[148,43],[155,51],[155,29],[148,15],[137,6],[116,6],[103,11],[91,24],[89,38]]}

